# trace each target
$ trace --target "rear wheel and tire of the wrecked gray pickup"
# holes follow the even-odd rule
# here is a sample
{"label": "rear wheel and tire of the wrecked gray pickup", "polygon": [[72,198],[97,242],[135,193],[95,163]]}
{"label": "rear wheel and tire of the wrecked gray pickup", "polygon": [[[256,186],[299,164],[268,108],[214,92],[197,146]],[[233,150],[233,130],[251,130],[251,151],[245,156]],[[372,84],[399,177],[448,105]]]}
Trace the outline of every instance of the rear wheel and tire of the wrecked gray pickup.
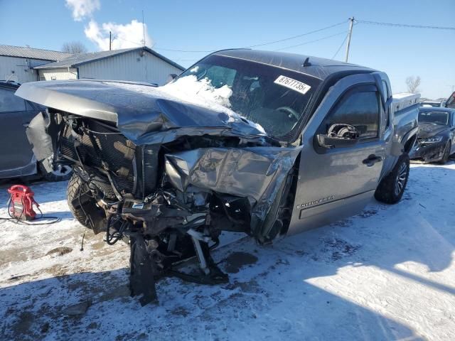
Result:
{"label": "rear wheel and tire of the wrecked gray pickup", "polygon": [[387,204],[396,204],[401,200],[410,175],[410,157],[407,153],[398,158],[392,171],[381,180],[376,188],[375,198]]}

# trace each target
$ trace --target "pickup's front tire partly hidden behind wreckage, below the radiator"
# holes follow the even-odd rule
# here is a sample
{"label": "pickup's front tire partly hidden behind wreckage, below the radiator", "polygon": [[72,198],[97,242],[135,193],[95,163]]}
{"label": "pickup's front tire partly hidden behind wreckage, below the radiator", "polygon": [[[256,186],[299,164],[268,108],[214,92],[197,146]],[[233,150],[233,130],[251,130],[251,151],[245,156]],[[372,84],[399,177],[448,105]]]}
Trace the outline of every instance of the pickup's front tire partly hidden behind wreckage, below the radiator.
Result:
{"label": "pickup's front tire partly hidden behind wreckage, below the radiator", "polygon": [[93,229],[93,232],[97,234],[105,230],[106,215],[105,211],[97,206],[96,200],[91,195],[87,195],[87,193],[90,193],[87,185],[79,175],[73,173],[68,181],[68,189],[66,191],[68,207],[77,222],[89,229]]}

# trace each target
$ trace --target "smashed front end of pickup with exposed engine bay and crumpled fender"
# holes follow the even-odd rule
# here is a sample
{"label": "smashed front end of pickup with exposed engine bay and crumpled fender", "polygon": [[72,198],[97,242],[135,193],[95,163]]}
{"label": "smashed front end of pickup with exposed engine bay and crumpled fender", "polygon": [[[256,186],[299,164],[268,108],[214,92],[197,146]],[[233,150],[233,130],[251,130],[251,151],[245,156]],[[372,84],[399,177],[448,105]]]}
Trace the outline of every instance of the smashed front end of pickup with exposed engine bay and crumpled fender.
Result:
{"label": "smashed front end of pickup with exposed engine bay and crumpled fender", "polygon": [[[228,281],[210,256],[222,231],[245,232],[262,244],[287,232],[299,148],[210,134],[137,145],[112,122],[55,109],[33,119],[28,138],[52,151],[45,158],[50,168],[73,166],[73,215],[105,232],[107,244],[129,244],[130,289],[143,294],[142,305],[156,300],[161,276]],[[200,273],[173,269],[193,256]]]}

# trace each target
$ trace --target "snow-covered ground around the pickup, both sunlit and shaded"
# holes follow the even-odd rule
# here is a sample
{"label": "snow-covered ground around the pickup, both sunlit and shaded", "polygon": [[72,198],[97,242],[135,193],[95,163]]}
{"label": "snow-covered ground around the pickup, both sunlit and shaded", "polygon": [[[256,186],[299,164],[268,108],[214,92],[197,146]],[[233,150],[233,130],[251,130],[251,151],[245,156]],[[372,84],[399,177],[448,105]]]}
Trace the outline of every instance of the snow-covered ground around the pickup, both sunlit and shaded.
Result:
{"label": "snow-covered ground around the pickup, both sunlit and shaded", "polygon": [[37,183],[62,221],[0,222],[0,340],[455,340],[454,185],[455,163],[414,164],[398,205],[270,247],[237,239],[213,255],[228,285],[167,278],[141,307],[127,247],[87,231],[80,251],[65,183]]}

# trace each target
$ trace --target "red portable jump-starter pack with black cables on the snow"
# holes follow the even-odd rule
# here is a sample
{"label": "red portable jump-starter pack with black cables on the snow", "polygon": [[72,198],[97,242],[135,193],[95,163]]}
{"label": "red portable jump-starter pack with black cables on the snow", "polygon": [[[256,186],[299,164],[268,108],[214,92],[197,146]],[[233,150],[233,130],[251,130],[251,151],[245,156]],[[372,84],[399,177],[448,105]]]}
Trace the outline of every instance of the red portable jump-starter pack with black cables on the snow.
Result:
{"label": "red portable jump-starter pack with black cables on the snow", "polygon": [[33,211],[33,204],[38,207],[38,202],[33,199],[31,188],[23,185],[14,185],[8,189],[11,195],[9,201],[9,215],[16,219],[33,220],[36,218],[36,212]]}

